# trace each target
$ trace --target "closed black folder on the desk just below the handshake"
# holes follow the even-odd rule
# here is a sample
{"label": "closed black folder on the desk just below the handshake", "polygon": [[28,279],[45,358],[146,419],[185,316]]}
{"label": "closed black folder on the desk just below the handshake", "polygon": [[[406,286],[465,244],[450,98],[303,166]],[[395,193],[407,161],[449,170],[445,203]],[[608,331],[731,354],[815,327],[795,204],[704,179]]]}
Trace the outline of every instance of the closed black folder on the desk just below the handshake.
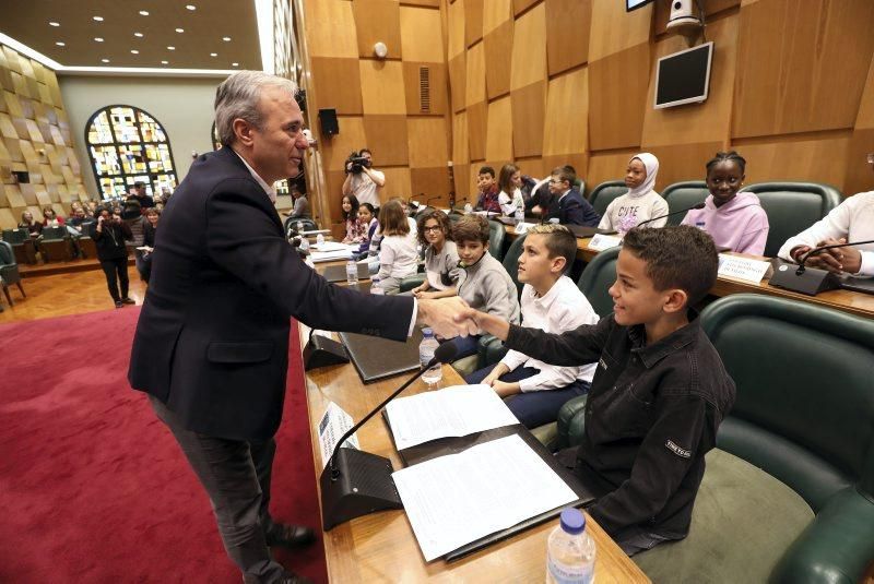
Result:
{"label": "closed black folder on the desk just below the handshake", "polygon": [[340,341],[365,383],[414,371],[420,367],[422,331],[417,327],[405,343],[355,333],[340,333]]}

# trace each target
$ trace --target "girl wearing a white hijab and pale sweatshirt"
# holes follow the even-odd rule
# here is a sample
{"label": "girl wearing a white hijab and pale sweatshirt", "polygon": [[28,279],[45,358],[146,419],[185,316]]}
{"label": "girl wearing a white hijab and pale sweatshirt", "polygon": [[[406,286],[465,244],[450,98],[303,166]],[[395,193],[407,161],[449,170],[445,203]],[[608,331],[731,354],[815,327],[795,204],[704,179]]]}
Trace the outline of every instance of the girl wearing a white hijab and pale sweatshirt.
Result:
{"label": "girl wearing a white hijab and pale sweatshirt", "polygon": [[[652,187],[659,174],[659,159],[648,152],[637,154],[628,160],[625,172],[625,186],[628,192],[614,199],[601,223],[599,229],[612,229],[625,235],[631,228],[652,217],[668,214],[668,202],[659,195]],[[648,223],[647,227],[664,227],[666,218]]]}

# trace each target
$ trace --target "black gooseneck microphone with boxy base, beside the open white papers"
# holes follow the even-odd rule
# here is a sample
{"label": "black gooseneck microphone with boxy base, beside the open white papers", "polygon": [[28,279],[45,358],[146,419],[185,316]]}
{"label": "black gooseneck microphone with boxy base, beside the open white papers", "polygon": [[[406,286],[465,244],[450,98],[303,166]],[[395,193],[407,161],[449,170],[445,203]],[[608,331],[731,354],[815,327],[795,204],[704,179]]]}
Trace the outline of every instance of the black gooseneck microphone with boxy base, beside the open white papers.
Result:
{"label": "black gooseneck microphone with boxy base, beside the open white papers", "polygon": [[319,477],[321,487],[322,528],[327,532],[355,517],[385,509],[403,509],[398,489],[391,478],[394,470],[385,456],[355,449],[344,449],[349,438],[370,418],[437,363],[451,361],[458,348],[454,343],[444,343],[434,351],[434,358],[398,388],[381,404],[349,429],[336,442],[331,458]]}

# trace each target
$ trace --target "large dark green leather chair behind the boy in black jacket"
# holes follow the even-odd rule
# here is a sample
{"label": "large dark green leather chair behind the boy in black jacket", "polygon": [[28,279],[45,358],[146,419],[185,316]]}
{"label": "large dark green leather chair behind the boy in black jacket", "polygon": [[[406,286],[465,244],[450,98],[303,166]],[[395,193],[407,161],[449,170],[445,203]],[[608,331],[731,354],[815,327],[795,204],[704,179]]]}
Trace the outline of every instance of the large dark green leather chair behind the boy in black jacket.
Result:
{"label": "large dark green leather chair behind the boy in black jacket", "polygon": [[[874,322],[735,295],[701,326],[737,386],[689,536],[635,556],[653,582],[854,583],[874,561]],[[578,443],[579,412],[559,416]]]}

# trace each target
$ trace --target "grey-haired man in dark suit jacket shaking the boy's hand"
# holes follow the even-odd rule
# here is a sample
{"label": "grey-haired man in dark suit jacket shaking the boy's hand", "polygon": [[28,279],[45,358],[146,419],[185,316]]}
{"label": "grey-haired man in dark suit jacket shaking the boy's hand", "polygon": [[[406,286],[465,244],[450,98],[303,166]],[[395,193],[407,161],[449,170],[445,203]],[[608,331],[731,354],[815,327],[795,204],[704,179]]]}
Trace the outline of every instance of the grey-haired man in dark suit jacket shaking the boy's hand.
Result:
{"label": "grey-haired man in dark suit jacket shaking the boy's hand", "polygon": [[197,159],[164,211],[128,372],[209,493],[247,583],[305,582],[268,546],[315,539],[308,527],[269,513],[290,317],[398,341],[416,319],[444,336],[475,332],[452,321],[458,299],[416,303],[330,285],[285,241],[271,186],[298,172],[308,145],[295,91],[291,81],[252,71],[218,87],[224,147]]}

